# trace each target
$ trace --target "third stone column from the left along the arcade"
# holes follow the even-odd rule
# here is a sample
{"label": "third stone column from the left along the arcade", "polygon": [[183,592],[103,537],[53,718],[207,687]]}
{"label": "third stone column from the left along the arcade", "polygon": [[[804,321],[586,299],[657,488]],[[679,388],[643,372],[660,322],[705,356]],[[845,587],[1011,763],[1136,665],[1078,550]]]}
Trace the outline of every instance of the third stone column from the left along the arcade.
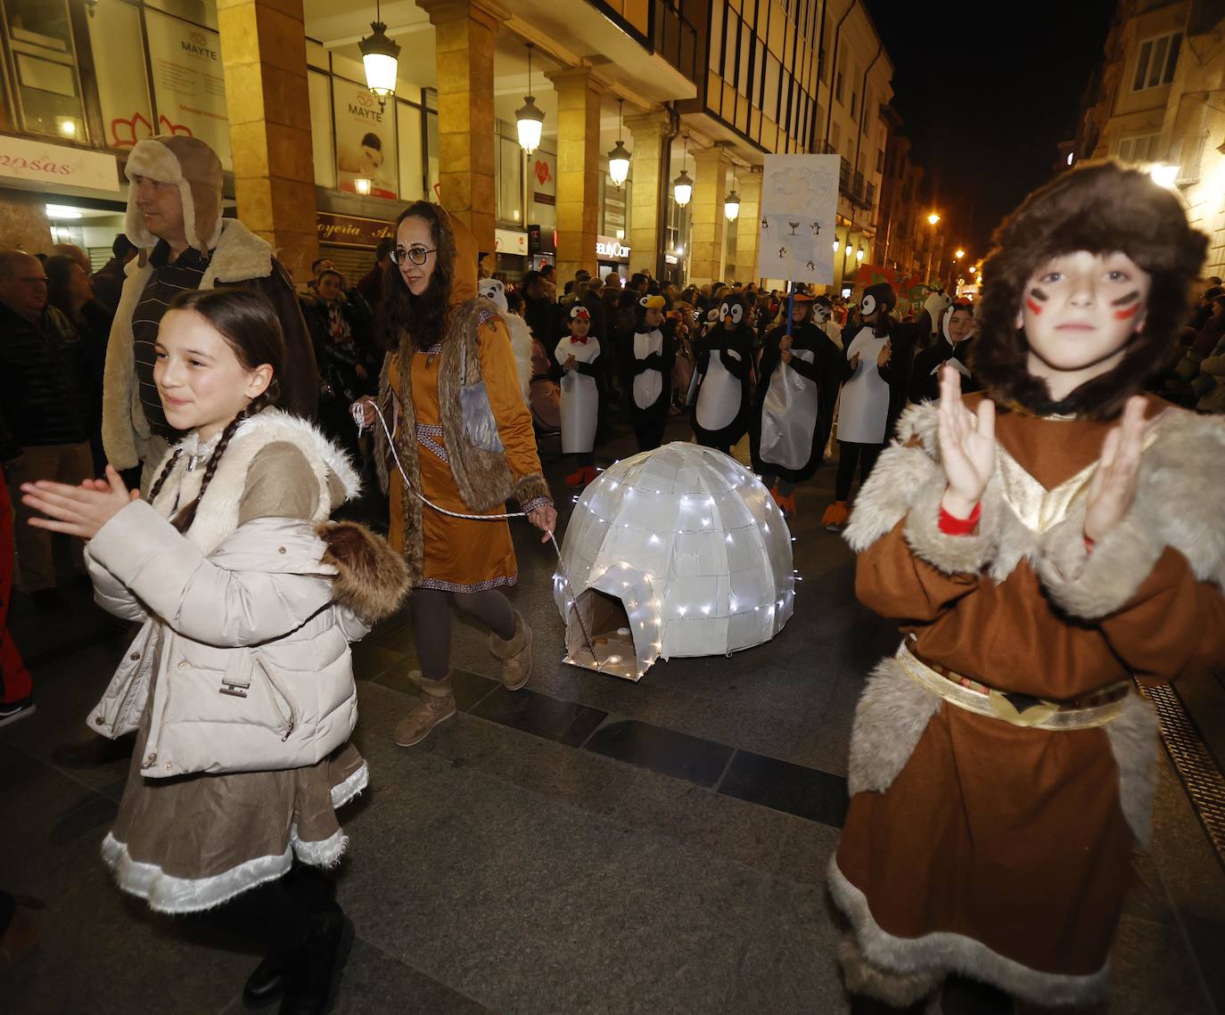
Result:
{"label": "third stone column from the left along the arcade", "polygon": [[590,67],[545,73],[557,92],[557,280],[595,275],[600,202],[600,89]]}

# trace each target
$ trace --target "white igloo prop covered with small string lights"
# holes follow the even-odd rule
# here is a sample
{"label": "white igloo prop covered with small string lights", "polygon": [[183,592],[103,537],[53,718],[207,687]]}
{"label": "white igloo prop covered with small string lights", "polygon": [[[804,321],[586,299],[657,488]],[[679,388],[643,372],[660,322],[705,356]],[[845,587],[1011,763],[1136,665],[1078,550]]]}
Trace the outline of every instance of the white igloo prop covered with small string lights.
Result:
{"label": "white igloo prop covered with small string lights", "polygon": [[783,513],[748,469],[699,444],[666,444],[601,473],[575,507],[561,556],[570,586],[559,568],[554,600],[566,662],[631,681],[660,656],[768,642],[794,606]]}

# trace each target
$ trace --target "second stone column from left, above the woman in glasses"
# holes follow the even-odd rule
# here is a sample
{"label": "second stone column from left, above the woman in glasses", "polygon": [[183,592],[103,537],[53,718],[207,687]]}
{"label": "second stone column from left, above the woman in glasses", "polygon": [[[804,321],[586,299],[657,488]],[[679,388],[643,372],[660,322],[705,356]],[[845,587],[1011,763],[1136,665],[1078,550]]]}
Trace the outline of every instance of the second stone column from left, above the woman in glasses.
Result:
{"label": "second stone column from left, above the woman in glasses", "polygon": [[[439,66],[439,189],[481,252],[494,250],[494,37],[508,17],[490,0],[418,0]],[[402,54],[401,59],[404,59]]]}

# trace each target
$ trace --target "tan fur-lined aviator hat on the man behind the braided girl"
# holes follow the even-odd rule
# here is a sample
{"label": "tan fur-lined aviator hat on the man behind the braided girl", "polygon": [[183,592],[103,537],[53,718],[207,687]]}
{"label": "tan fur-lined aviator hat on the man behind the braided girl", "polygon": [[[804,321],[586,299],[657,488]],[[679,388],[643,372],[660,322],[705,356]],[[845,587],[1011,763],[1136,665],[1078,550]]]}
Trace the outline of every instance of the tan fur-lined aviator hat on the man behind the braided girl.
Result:
{"label": "tan fur-lined aviator hat on the man behind the braided girl", "polygon": [[145,225],[136,207],[134,176],[147,176],[179,189],[183,198],[183,228],[187,245],[205,257],[222,236],[222,160],[197,137],[169,135],[140,141],[127,155],[127,217],[124,233],[141,250],[141,263],[158,238]]}

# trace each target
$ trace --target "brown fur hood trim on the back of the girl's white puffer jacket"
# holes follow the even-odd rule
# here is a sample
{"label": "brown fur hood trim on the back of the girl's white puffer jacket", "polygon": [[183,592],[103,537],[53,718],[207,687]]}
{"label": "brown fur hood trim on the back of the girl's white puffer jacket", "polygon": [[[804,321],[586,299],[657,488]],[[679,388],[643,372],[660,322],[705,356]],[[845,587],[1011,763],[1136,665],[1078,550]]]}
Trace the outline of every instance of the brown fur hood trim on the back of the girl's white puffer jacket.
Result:
{"label": "brown fur hood trim on the back of the girl's white puffer jacket", "polygon": [[408,595],[408,566],[382,536],[356,522],[323,522],[315,533],[336,567],[334,599],[371,623],[390,617]]}

